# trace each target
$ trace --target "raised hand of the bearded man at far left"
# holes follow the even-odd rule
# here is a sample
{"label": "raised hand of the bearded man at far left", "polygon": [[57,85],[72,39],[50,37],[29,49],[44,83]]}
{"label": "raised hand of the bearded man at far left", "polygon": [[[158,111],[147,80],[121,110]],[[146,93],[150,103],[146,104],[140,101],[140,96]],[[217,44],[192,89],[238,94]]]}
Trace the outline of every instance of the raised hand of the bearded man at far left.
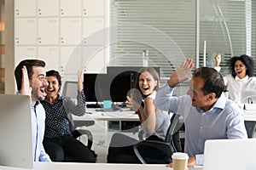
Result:
{"label": "raised hand of the bearded man at far left", "polygon": [[22,79],[21,79],[21,88],[20,88],[20,94],[22,95],[28,95],[31,97],[32,95],[32,87],[29,85],[29,78],[26,71],[26,66],[24,65],[22,68]]}

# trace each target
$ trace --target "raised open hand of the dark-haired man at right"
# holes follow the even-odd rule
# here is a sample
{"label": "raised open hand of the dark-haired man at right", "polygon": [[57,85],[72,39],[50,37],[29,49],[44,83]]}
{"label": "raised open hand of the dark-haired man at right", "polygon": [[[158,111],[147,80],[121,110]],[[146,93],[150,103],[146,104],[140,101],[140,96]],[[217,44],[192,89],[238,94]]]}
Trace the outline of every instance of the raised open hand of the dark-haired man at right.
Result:
{"label": "raised open hand of the dark-haired man at right", "polygon": [[172,73],[168,81],[169,86],[174,88],[175,86],[177,86],[178,83],[189,79],[189,77],[187,77],[187,74],[189,73],[189,71],[191,71],[193,66],[193,59],[186,59],[185,61],[183,61],[183,63],[179,67],[177,67],[177,69]]}

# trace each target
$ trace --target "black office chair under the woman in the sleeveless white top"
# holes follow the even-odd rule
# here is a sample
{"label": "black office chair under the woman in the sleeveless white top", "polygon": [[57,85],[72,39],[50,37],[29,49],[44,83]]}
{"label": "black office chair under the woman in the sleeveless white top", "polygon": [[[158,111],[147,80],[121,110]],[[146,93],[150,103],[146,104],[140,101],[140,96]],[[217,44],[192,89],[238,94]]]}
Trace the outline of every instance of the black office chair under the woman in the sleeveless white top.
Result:
{"label": "black office chair under the woman in the sleeveless white top", "polygon": [[[182,151],[181,141],[179,139],[179,128],[182,127],[183,122],[180,122],[180,116],[174,114],[171,118],[171,125],[168,127],[168,131],[166,133],[166,139],[164,142],[154,141],[154,140],[143,140],[140,143],[133,145],[133,150],[136,153],[137,158],[141,163],[171,163],[172,162],[172,154],[177,151]],[[142,156],[139,147],[141,146],[149,146],[152,148],[156,148],[157,150],[161,150],[166,154],[166,159],[162,157],[152,158]]]}

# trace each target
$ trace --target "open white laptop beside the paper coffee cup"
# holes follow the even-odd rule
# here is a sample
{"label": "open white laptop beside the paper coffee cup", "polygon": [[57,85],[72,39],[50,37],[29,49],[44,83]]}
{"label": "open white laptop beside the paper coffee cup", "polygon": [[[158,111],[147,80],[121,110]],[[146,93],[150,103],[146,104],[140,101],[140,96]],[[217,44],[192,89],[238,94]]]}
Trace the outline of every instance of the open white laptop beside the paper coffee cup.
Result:
{"label": "open white laptop beside the paper coffee cup", "polygon": [[256,169],[256,139],[207,140],[203,170]]}

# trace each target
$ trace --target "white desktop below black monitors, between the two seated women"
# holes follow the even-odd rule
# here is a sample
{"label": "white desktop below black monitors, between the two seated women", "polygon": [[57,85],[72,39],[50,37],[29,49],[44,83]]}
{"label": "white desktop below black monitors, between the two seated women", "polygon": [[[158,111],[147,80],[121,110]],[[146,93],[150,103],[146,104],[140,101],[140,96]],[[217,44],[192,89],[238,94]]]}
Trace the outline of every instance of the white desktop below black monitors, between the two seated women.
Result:
{"label": "white desktop below black monitors, between the two seated women", "polygon": [[87,109],[90,114],[84,116],[73,116],[74,121],[139,121],[139,117],[134,111],[124,109],[123,111],[103,112],[95,109]]}

